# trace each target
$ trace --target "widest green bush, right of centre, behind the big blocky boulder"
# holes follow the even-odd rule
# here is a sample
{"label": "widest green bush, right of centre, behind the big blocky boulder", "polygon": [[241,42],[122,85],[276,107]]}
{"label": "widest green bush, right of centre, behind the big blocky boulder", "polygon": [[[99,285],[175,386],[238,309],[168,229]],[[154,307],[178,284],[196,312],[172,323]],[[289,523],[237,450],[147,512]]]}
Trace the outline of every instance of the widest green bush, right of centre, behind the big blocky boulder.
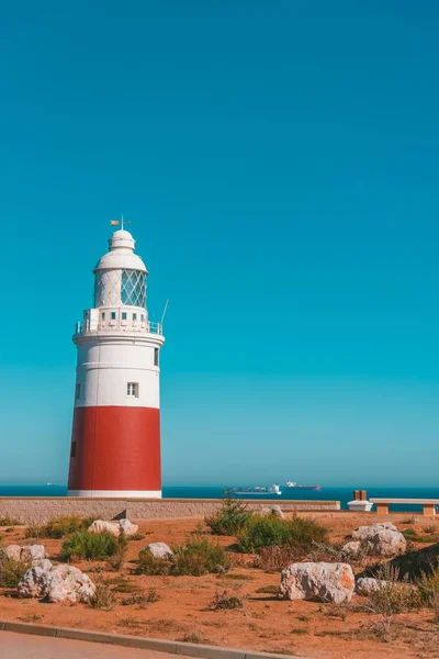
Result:
{"label": "widest green bush, right of centre, behind the big blocky boulder", "polygon": [[311,517],[280,520],[274,515],[252,515],[238,534],[238,544],[240,551],[245,552],[259,552],[263,547],[273,545],[289,545],[292,552],[303,555],[311,550],[313,541],[326,541],[327,535],[327,529]]}

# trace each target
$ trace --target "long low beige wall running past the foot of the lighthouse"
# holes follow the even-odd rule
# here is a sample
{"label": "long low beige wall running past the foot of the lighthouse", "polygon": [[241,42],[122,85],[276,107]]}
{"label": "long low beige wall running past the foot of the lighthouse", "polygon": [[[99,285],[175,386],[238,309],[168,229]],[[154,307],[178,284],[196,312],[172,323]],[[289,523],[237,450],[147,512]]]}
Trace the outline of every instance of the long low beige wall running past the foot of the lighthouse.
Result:
{"label": "long low beige wall running past the foot of the lighthouse", "polygon": [[[112,520],[126,516],[131,520],[160,520],[196,517],[215,512],[217,499],[100,499],[76,496],[0,496],[0,520],[10,517],[20,524],[44,524],[54,517],[77,515]],[[339,511],[339,501],[249,501],[251,510],[280,505],[282,511]]]}

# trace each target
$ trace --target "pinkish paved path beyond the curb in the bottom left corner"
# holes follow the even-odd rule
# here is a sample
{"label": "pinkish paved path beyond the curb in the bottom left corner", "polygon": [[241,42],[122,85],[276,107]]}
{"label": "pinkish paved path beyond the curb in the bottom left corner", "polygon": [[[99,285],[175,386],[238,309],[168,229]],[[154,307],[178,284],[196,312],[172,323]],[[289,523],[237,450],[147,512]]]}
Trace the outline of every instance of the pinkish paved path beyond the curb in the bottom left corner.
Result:
{"label": "pinkish paved path beyond the curb in the bottom left corner", "polygon": [[[176,659],[176,655],[86,640],[0,632],[0,659]],[[185,658],[179,656],[179,659]]]}

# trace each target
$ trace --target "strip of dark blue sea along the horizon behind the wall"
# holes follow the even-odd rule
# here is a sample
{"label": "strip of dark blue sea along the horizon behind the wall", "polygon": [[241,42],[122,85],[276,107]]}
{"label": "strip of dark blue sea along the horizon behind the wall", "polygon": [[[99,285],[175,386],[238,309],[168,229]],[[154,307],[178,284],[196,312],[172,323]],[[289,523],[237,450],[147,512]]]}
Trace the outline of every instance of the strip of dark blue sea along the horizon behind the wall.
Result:
{"label": "strip of dark blue sea along the horizon behind the wall", "polygon": [[[164,485],[164,499],[221,499],[224,490],[232,485]],[[358,488],[356,488],[358,489]],[[367,490],[368,498],[391,498],[391,499],[439,499],[438,488],[379,488],[362,487]],[[339,501],[342,510],[348,509],[348,501],[353,499],[353,488],[325,488],[318,492],[313,490],[301,490],[295,488],[285,488],[281,485],[282,494],[267,494],[266,496],[241,496],[239,499],[258,500],[263,502],[266,499],[277,501]],[[0,485],[0,496],[66,496],[67,488],[64,485]],[[395,511],[421,512],[421,506],[409,504],[396,504],[392,506]]]}

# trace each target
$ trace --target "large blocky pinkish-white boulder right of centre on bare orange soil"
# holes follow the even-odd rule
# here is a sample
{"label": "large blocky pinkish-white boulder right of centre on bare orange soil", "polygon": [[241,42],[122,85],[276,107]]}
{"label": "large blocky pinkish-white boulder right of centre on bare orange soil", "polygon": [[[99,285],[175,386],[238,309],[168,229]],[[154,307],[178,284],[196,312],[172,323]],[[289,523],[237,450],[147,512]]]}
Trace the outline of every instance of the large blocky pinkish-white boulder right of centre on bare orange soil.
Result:
{"label": "large blocky pinkish-white boulder right of centre on bare orange soil", "polygon": [[292,563],[281,573],[280,590],[289,600],[314,602],[350,602],[356,587],[348,563]]}

